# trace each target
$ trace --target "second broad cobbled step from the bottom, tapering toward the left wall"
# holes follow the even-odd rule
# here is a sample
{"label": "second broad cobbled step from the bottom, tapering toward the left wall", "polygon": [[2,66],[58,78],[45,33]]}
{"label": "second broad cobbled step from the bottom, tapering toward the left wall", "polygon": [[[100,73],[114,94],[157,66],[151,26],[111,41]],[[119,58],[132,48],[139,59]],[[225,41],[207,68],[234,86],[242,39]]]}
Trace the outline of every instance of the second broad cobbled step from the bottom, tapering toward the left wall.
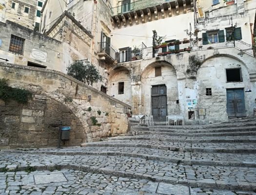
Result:
{"label": "second broad cobbled step from the bottom, tapering toward the left wall", "polygon": [[[111,145],[111,144],[110,144]],[[118,148],[117,148],[118,147]],[[256,156],[243,154],[206,154],[206,153],[180,153],[159,149],[139,147],[119,147],[119,145],[83,144],[82,148],[70,151],[34,151],[31,154],[68,155],[68,156],[129,156],[163,162],[173,162],[183,165],[211,165],[211,166],[242,166],[255,167]],[[232,159],[232,160],[230,160]]]}

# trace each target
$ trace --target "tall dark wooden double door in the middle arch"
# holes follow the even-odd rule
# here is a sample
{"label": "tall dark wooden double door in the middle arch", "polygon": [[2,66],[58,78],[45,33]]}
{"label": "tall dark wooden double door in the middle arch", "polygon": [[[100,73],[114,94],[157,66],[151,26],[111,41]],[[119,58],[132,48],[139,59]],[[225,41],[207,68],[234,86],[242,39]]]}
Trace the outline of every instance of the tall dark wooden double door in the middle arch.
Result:
{"label": "tall dark wooden double door in the middle arch", "polygon": [[154,120],[166,120],[167,95],[165,85],[152,86],[151,104]]}

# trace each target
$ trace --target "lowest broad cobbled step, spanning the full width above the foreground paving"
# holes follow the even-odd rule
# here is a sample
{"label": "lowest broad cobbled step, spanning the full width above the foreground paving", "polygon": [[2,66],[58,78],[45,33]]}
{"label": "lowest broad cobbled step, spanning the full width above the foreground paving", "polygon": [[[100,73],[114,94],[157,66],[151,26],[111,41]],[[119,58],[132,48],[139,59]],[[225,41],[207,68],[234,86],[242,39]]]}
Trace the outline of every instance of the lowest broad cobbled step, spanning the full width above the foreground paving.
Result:
{"label": "lowest broad cobbled step, spanning the full width above the foreground paving", "polygon": [[[31,151],[30,153],[17,152],[1,153],[1,171],[25,171],[28,167],[30,170],[51,171],[73,169],[191,187],[256,190],[256,168],[254,167],[183,165],[129,156],[69,156],[33,154]],[[63,149],[62,152],[67,154],[68,151]]]}

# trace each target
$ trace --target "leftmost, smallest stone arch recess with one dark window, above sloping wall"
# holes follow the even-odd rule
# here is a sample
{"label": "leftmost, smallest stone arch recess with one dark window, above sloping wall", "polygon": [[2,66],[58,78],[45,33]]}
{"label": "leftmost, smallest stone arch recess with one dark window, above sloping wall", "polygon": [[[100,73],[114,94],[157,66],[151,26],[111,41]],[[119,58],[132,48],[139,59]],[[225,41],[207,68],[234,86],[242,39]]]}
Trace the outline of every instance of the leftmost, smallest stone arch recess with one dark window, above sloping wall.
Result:
{"label": "leftmost, smallest stone arch recess with one dark window, above sloping wall", "polygon": [[[108,94],[131,105],[131,71],[125,66],[116,66],[110,71]],[[122,86],[123,85],[123,92]]]}

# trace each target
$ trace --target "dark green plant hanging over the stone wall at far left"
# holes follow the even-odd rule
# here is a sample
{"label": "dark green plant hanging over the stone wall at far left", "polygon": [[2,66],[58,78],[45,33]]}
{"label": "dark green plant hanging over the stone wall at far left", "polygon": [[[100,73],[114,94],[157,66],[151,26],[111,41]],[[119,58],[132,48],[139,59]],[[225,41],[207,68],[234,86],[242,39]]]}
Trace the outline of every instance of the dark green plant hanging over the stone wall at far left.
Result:
{"label": "dark green plant hanging over the stone wall at far left", "polygon": [[0,78],[0,99],[15,100],[19,103],[27,103],[32,98],[32,93],[26,89],[13,88],[8,86],[8,79]]}

